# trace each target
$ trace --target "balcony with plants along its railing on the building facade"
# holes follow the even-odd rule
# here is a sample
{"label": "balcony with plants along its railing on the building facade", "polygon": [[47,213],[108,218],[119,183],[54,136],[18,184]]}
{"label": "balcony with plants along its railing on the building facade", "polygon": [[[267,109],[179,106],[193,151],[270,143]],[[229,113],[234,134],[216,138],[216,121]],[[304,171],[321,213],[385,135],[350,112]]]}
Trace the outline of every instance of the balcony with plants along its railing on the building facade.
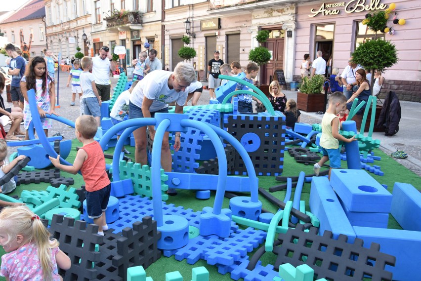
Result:
{"label": "balcony with plants along its railing on the building facade", "polygon": [[139,11],[116,11],[110,17],[104,18],[107,21],[107,30],[112,33],[119,31],[141,30],[142,17]]}

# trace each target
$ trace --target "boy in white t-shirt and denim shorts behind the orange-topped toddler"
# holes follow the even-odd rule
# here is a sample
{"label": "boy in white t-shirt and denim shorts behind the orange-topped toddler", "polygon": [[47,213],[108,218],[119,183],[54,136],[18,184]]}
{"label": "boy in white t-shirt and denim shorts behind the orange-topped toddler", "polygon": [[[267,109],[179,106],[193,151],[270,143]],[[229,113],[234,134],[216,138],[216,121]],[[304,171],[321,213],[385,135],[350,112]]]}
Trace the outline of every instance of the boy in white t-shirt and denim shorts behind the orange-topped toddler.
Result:
{"label": "boy in white t-shirt and denim shorts behind the orange-topped toddler", "polygon": [[84,101],[84,114],[91,115],[95,118],[98,127],[101,125],[101,97],[95,85],[95,77],[89,71],[92,70],[92,58],[83,57],[81,60],[84,72],[81,73],[81,87],[84,94],[82,100]]}

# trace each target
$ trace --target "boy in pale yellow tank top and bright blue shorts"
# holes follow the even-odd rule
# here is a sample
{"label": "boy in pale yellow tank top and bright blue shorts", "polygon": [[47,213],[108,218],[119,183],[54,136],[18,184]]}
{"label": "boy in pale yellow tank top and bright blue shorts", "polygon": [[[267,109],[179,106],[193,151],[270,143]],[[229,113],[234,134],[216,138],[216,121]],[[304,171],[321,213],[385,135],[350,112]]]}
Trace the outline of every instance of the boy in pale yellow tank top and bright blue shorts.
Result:
{"label": "boy in pale yellow tank top and bright blue shorts", "polygon": [[339,134],[339,117],[337,114],[346,108],[346,97],[342,92],[334,92],[329,99],[329,107],[322,119],[322,137],[320,138],[320,147],[323,157],[318,163],[314,164],[313,170],[316,176],[319,175],[320,167],[327,161],[330,161],[329,179],[331,178],[332,168],[340,168],[339,141],[352,142],[355,136],[350,139]]}

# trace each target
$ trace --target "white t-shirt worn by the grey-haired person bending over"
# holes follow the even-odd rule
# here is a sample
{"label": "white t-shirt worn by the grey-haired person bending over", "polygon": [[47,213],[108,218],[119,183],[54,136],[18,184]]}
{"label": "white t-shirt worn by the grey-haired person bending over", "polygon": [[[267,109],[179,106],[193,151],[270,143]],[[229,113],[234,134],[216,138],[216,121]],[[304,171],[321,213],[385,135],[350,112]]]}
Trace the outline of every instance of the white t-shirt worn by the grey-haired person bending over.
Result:
{"label": "white t-shirt worn by the grey-haired person bending over", "polygon": [[168,79],[172,72],[156,70],[140,80],[130,95],[130,102],[142,108],[143,98],[154,100],[149,108],[150,112],[156,112],[168,107],[168,103],[177,101],[179,106],[184,106],[188,95],[188,87],[184,91],[175,91],[168,87]]}

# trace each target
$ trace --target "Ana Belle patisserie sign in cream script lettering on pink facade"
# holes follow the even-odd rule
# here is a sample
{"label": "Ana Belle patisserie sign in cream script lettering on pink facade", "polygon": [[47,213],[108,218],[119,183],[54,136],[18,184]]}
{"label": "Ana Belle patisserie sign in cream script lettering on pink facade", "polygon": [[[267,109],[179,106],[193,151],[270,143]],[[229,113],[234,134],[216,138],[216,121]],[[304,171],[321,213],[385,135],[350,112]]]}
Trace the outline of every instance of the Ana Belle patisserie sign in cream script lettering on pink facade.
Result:
{"label": "Ana Belle patisserie sign in cream script lettering on pink facade", "polygon": [[340,13],[340,10],[337,9],[339,7],[344,7],[345,13],[349,14],[353,12],[384,10],[387,5],[380,3],[380,0],[350,0],[349,2],[322,3],[318,10],[311,9],[311,14],[308,16],[315,17],[318,14],[324,16],[337,15]]}

